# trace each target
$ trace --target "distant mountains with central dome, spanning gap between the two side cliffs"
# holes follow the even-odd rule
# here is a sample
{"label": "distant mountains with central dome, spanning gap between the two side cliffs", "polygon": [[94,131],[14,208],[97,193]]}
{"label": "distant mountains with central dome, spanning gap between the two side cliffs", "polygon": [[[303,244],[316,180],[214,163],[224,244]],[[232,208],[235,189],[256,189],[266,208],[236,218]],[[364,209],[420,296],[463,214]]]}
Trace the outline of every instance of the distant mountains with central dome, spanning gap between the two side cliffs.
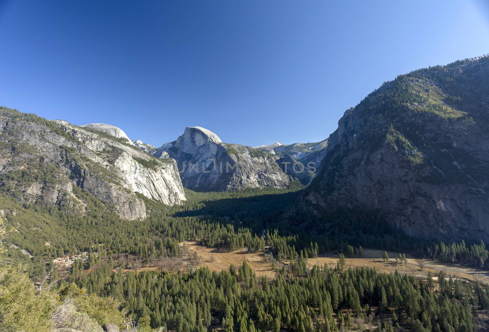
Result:
{"label": "distant mountains with central dome, spanning gap between the two side cliffs", "polygon": [[295,181],[307,184],[327,147],[326,139],[252,148],[223,143],[217,134],[202,127],[185,128],[175,141],[159,149],[141,141],[134,143],[156,157],[174,158],[183,186],[197,191],[287,188]]}

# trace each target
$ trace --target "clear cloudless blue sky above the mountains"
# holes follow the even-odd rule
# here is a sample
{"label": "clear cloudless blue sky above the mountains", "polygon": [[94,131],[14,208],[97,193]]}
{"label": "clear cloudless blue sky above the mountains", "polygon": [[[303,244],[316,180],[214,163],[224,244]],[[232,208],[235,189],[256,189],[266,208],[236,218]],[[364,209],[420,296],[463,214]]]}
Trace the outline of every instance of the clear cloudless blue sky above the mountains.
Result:
{"label": "clear cloudless blue sky above the mountains", "polygon": [[[401,3],[404,2],[404,3]],[[382,82],[489,52],[487,2],[0,0],[0,104],[160,146],[313,142]]]}

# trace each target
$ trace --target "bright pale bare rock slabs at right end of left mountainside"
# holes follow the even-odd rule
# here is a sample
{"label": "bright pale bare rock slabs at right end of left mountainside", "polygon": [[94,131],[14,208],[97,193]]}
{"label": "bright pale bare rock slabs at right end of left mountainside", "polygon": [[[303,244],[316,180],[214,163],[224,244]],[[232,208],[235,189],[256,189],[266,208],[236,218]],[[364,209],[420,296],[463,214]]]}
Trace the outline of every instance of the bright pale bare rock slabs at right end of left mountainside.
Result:
{"label": "bright pale bare rock slabs at right end of left mountainside", "polygon": [[88,153],[87,156],[104,166],[111,173],[114,182],[105,182],[97,177],[85,178],[80,174],[78,184],[102,199],[122,207],[120,210],[124,211],[124,218],[144,217],[145,209],[139,199],[128,200],[127,195],[121,194],[120,190],[114,190],[118,186],[169,205],[179,204],[185,199],[175,160],[152,158],[135,147],[100,137],[67,123],[60,123],[60,128],[91,152],[95,152],[93,155]]}

